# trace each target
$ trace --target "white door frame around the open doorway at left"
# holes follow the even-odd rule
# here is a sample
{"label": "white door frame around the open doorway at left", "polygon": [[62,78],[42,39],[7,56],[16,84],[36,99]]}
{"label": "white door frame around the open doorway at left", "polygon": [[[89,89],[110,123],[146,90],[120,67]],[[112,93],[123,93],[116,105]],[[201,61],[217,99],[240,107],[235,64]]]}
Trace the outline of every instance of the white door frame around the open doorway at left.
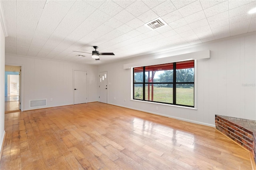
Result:
{"label": "white door frame around the open doorway at left", "polygon": [[24,65],[16,63],[5,63],[5,65],[20,66],[20,111],[24,111]]}

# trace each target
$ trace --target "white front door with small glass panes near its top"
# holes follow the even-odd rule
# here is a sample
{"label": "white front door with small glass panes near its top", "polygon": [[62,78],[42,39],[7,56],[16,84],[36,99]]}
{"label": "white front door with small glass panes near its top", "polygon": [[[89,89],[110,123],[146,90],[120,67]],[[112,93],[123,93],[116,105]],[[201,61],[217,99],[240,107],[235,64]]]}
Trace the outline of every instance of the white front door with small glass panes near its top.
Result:
{"label": "white front door with small glass panes near its top", "polygon": [[108,72],[100,72],[100,102],[108,103]]}

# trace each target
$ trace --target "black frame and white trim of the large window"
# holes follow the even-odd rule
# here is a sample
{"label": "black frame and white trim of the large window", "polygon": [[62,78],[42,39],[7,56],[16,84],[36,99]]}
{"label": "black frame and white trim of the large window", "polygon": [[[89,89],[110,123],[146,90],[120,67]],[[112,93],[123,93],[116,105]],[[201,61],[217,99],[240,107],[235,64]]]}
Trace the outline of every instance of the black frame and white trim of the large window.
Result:
{"label": "black frame and white trim of the large window", "polygon": [[[176,80],[176,64],[177,63],[181,63],[181,62],[184,62],[184,61],[176,61],[176,62],[172,62],[173,63],[173,82],[146,82],[146,70],[145,68],[148,67],[148,66],[143,66],[143,82],[134,82],[134,68],[137,68],[137,67],[132,67],[131,69],[131,73],[132,73],[132,100],[136,100],[136,101],[145,101],[145,102],[152,102],[152,103],[159,103],[159,104],[165,104],[165,105],[172,105],[172,106],[179,106],[179,107],[188,107],[188,108],[191,108],[191,109],[196,109],[196,79],[197,79],[197,76],[196,76],[196,60],[195,59],[190,59],[190,60],[187,60],[187,61],[194,61],[194,82],[177,82]],[[168,64],[168,63],[164,63],[164,64]],[[158,64],[158,65],[162,65],[162,64]],[[150,65],[150,66],[156,66],[156,65]],[[135,85],[136,84],[141,84],[142,85],[142,89],[143,89],[143,97],[142,99],[135,99],[134,98],[134,92],[135,92]],[[151,100],[146,100],[145,99],[145,95],[146,95],[146,85],[152,85],[152,84],[171,84],[173,87],[173,101],[172,103],[165,103],[165,102],[160,102],[160,101],[151,101]],[[176,95],[176,85],[178,84],[193,84],[194,85],[194,93],[193,93],[193,96],[194,96],[194,99],[193,99],[193,103],[194,105],[182,105],[182,104],[177,104],[176,103],[176,99],[177,99],[177,95]]]}

